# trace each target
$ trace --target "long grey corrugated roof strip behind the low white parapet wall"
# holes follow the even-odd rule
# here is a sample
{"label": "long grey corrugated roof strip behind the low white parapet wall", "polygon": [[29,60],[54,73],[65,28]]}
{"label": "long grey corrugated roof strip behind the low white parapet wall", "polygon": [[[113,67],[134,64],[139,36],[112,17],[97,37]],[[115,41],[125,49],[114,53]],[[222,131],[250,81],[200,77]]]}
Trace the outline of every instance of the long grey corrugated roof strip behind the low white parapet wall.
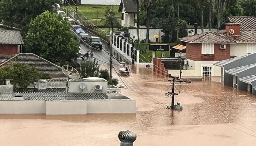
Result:
{"label": "long grey corrugated roof strip behind the low white parapet wall", "polygon": [[0,100],[105,100],[105,96],[104,93],[0,93]]}

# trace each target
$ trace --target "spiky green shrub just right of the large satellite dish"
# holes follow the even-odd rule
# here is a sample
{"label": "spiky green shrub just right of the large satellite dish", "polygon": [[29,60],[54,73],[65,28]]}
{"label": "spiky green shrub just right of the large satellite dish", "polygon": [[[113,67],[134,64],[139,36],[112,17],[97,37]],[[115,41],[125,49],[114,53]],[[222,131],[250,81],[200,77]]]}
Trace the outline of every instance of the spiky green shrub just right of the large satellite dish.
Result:
{"label": "spiky green shrub just right of the large satellite dish", "polygon": [[87,77],[99,77],[99,65],[96,59],[94,61],[86,61],[80,64],[80,69],[78,69],[80,78]]}

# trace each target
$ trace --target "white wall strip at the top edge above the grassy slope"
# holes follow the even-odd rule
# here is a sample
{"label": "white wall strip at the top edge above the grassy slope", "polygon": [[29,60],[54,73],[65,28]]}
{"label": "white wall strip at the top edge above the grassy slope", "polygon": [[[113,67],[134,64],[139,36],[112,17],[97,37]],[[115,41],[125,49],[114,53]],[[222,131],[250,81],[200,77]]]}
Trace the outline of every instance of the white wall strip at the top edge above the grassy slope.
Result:
{"label": "white wall strip at the top edge above the grassy slope", "polygon": [[86,5],[120,5],[121,0],[81,0]]}

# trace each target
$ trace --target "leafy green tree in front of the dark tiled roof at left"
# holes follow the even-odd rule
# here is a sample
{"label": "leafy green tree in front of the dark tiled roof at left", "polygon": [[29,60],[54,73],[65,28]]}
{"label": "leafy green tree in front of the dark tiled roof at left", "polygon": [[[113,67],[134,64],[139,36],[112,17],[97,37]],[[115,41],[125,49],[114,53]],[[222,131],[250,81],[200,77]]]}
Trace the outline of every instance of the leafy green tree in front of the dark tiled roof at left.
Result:
{"label": "leafy green tree in front of the dark tiled roof at left", "polygon": [[50,78],[48,74],[40,73],[35,68],[31,68],[25,64],[16,64],[0,68],[0,84],[4,84],[6,79],[11,80],[11,84],[17,88],[27,88],[33,82],[42,78]]}

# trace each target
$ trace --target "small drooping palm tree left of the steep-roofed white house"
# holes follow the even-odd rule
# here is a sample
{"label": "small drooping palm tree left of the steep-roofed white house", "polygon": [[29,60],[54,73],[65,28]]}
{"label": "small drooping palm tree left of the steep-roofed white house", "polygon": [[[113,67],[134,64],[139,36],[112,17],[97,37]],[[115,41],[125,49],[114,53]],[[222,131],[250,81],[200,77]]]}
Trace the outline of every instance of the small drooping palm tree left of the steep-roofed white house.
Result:
{"label": "small drooping palm tree left of the steep-roofed white house", "polygon": [[105,18],[101,19],[101,22],[103,21],[105,26],[111,27],[113,32],[114,26],[119,25],[115,15],[116,13],[114,12],[114,6],[112,5],[112,11],[110,11],[110,7],[108,7],[105,11]]}

